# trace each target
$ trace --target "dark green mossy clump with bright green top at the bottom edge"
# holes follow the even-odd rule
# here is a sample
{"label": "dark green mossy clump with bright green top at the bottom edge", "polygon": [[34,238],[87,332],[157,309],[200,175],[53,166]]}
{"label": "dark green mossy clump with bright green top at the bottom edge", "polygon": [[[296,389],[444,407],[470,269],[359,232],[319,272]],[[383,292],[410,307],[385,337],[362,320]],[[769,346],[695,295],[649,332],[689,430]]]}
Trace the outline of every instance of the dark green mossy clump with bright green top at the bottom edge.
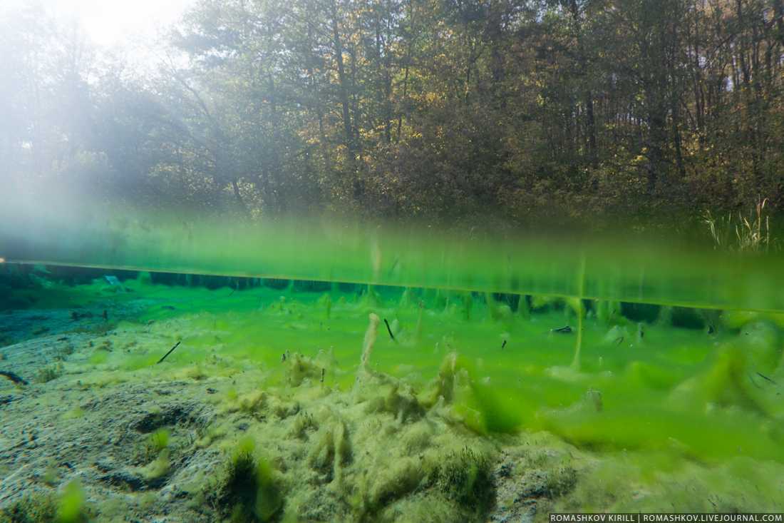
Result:
{"label": "dark green mossy clump with bright green top at the bottom edge", "polygon": [[283,507],[281,481],[255,447],[250,438],[239,441],[205,491],[216,511],[232,523],[271,521]]}

